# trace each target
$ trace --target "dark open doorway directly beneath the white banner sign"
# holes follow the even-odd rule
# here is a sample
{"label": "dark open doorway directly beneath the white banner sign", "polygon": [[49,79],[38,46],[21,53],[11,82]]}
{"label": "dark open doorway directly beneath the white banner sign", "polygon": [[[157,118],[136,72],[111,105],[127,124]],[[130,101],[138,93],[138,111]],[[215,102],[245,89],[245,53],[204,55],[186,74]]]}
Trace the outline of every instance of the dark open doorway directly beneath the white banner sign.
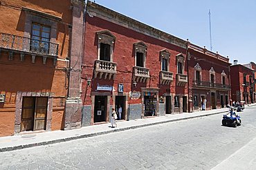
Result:
{"label": "dark open doorway directly beneath the white banner sign", "polygon": [[94,123],[107,122],[107,95],[95,95]]}

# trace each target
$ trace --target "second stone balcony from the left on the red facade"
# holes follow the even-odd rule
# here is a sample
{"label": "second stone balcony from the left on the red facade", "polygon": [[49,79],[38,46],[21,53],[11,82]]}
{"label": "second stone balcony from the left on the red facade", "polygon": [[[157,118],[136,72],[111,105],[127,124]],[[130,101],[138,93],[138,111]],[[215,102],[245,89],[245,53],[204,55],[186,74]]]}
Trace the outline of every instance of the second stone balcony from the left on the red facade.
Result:
{"label": "second stone balcony from the left on the red facade", "polygon": [[149,68],[134,66],[133,77],[136,82],[146,82],[149,79]]}

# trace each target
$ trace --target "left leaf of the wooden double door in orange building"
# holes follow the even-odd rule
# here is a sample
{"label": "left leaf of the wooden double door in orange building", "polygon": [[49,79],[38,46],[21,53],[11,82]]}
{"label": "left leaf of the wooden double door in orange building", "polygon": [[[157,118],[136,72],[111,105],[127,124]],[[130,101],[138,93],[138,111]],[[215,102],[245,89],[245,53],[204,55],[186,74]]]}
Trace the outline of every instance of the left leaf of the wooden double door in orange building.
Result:
{"label": "left leaf of the wooden double door in orange building", "polygon": [[21,112],[21,132],[33,131],[35,97],[24,97]]}

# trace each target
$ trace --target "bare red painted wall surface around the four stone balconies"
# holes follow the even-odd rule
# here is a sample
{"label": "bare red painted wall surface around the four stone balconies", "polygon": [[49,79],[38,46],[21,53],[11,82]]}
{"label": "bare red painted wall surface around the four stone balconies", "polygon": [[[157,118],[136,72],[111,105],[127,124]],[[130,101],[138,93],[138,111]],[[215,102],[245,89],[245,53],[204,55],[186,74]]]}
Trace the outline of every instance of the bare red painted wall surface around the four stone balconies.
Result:
{"label": "bare red painted wall surface around the four stone balconies", "polygon": [[[105,80],[105,79],[92,79],[91,88],[87,88],[86,91],[86,77],[93,77],[93,67],[95,59],[97,59],[97,44],[96,32],[100,30],[109,30],[114,36],[116,36],[116,42],[114,44],[113,52],[113,62],[117,63],[118,73],[116,79],[114,80]],[[137,88],[133,88],[131,84],[132,79],[132,70],[134,67],[134,53],[133,47],[134,43],[138,41],[144,41],[147,44],[147,59],[146,59],[146,68],[149,68],[150,75],[152,78],[147,87],[150,88],[161,88],[159,95],[166,93],[166,89],[170,89],[171,93],[187,93],[187,88],[176,86],[176,55],[183,53],[185,55],[185,49],[179,48],[172,44],[168,44],[164,41],[143,35],[134,30],[122,27],[116,23],[111,23],[104,19],[98,17],[89,17],[86,15],[86,28],[85,28],[85,43],[84,43],[84,58],[83,63],[86,64],[82,70],[82,78],[84,81],[82,83],[82,91],[86,93],[86,98],[84,97],[85,93],[82,94],[82,100],[84,105],[91,104],[90,94],[91,91],[95,91],[95,88],[98,84],[104,85],[113,85],[116,89],[118,83],[124,84],[124,91],[141,91],[140,87],[145,86],[142,83],[138,83]],[[159,82],[159,71],[161,71],[161,61],[159,53],[163,49],[169,50],[171,53],[170,56],[170,71],[174,73],[174,81],[169,86],[158,85]],[[187,74],[186,70],[184,74]],[[140,100],[131,100],[131,104],[140,103]]]}

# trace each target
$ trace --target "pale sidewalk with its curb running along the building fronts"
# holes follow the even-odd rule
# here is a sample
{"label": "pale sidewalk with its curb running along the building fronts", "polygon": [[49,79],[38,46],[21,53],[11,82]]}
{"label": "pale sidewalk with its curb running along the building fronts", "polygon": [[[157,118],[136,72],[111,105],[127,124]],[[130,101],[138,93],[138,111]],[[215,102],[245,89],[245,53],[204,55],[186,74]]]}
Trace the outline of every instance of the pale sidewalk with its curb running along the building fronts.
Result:
{"label": "pale sidewalk with its curb running along the building fronts", "polygon": [[137,129],[143,126],[152,126],[155,124],[163,124],[179,120],[187,120],[195,117],[203,117],[208,115],[227,112],[228,108],[219,108],[211,111],[198,111],[194,113],[181,113],[175,115],[166,115],[161,117],[150,117],[140,120],[120,121],[117,122],[117,128],[110,128],[110,124],[98,124],[93,126],[85,126],[81,129],[73,129],[69,131],[47,131],[43,133],[27,133],[22,135],[13,135],[0,138],[0,152],[13,151],[28,147],[36,147],[46,144],[54,144],[57,142],[65,142],[80,138],[89,138],[91,136],[113,133],[117,131],[127,131],[129,129]]}

